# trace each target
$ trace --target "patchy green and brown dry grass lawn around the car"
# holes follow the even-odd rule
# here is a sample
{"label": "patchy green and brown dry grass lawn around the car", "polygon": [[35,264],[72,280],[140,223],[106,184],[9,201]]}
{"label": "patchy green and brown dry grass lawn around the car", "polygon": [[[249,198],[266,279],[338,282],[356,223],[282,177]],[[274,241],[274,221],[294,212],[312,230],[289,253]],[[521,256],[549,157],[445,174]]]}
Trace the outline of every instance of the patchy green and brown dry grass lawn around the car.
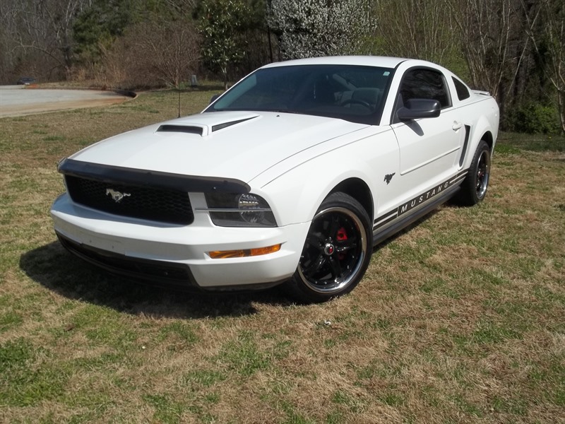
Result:
{"label": "patchy green and brown dry grass lawn around the car", "polygon": [[505,135],[482,204],[442,206],[351,295],[299,306],[148,288],[56,241],[57,161],[176,116],[162,92],[0,119],[0,422],[565,422],[564,139]]}

